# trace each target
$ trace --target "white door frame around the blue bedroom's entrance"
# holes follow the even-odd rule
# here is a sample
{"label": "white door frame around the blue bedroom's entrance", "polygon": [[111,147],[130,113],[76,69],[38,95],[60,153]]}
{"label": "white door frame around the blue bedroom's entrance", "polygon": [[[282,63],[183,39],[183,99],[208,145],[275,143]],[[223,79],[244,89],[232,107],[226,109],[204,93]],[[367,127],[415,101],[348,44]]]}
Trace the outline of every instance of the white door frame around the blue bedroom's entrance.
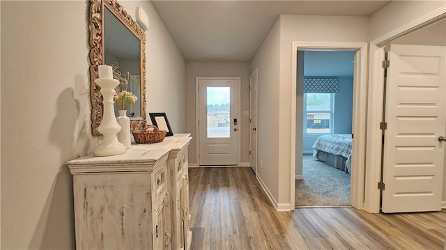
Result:
{"label": "white door frame around the blue bedroom's entrance", "polygon": [[[366,96],[367,88],[367,42],[293,42],[292,63],[291,63],[291,166],[290,166],[290,210],[295,209],[295,164],[296,156],[300,161],[302,157],[296,155],[296,139],[302,139],[302,123],[296,123],[297,111],[297,60],[298,50],[325,49],[336,51],[356,51],[355,57],[359,62],[355,63],[355,74],[353,76],[353,127],[355,134],[355,144],[352,148],[352,165],[355,171],[351,174],[351,205],[354,208],[362,210],[364,207],[364,175],[365,175],[365,143],[366,143],[366,98],[357,98],[357,96]],[[303,108],[302,108],[303,110]],[[299,128],[296,132],[296,127]]]}

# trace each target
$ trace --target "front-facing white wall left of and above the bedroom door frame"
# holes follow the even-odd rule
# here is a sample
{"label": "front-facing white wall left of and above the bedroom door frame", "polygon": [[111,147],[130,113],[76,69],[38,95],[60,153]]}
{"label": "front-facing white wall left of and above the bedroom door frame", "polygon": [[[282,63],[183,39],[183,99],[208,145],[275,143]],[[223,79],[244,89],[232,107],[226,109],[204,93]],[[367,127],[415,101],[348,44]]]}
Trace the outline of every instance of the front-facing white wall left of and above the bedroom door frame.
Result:
{"label": "front-facing white wall left of and above the bedroom door frame", "polygon": [[[279,203],[290,199],[291,136],[291,51],[293,41],[367,42],[367,17],[281,15],[280,94],[279,94]],[[300,97],[301,98],[301,97]],[[298,97],[298,100],[300,100]],[[302,102],[298,101],[296,117],[302,123]],[[302,132],[300,132],[302,134]],[[299,134],[296,134],[299,136]],[[301,136],[301,135],[300,135]],[[296,137],[296,141],[300,141]],[[296,144],[302,152],[302,143]],[[296,162],[302,162],[296,155]]]}

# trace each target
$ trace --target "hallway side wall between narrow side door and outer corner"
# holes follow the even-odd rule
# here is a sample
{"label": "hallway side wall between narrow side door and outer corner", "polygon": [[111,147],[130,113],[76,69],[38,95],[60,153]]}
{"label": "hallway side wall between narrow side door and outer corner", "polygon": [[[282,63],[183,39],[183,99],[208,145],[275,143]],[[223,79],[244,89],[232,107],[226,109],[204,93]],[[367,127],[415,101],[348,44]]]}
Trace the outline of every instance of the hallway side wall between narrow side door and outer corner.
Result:
{"label": "hallway side wall between narrow side door and outer corner", "polygon": [[[280,22],[280,18],[277,19],[251,62],[251,71],[256,68],[259,70],[257,176],[268,189],[276,205],[279,195],[277,135],[279,134]],[[261,168],[261,162],[263,162],[263,168]]]}

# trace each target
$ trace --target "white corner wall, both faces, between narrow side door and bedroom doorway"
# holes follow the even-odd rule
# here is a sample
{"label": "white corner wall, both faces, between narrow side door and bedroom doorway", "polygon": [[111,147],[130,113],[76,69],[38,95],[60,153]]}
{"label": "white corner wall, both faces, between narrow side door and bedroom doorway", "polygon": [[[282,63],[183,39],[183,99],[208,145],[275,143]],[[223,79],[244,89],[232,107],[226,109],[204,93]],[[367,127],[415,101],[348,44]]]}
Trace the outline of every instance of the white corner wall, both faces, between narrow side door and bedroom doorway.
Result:
{"label": "white corner wall, both faces, between narrow side door and bedroom doorway", "polygon": [[[277,24],[279,24],[279,31],[277,31]],[[271,88],[263,93],[260,91],[262,85],[265,84],[263,77],[266,76],[261,75],[262,69],[259,67],[259,103],[265,102],[267,104],[263,104],[263,107],[268,107],[267,110],[261,110],[259,105],[259,127],[268,126],[272,129],[270,123],[275,121],[274,133],[268,133],[267,136],[262,135],[260,131],[268,130],[265,128],[259,130],[259,148],[263,149],[263,151],[259,150],[259,155],[268,157],[268,164],[270,164],[268,166],[272,170],[269,175],[261,175],[261,178],[268,189],[274,190],[272,194],[278,204],[290,203],[291,86],[295,84],[291,82],[292,42],[367,42],[368,35],[367,17],[281,15],[276,26],[268,35],[270,40],[279,42],[279,47],[276,43],[268,43],[267,38],[254,57],[252,68],[259,67],[262,63],[266,64],[267,61],[270,63],[269,65],[274,65],[273,70],[263,68],[268,71],[263,74],[269,77],[268,84]],[[277,61],[275,49],[279,49],[279,61]],[[270,54],[265,56],[265,51]],[[265,87],[263,86],[263,88]],[[296,123],[302,123],[301,98],[298,96]],[[265,116],[266,118],[261,118]],[[302,132],[300,132],[300,136],[302,136]],[[300,140],[297,138],[297,141]],[[297,143],[295,151],[302,152],[302,143]],[[298,155],[296,162],[302,162],[301,157],[301,154]]]}

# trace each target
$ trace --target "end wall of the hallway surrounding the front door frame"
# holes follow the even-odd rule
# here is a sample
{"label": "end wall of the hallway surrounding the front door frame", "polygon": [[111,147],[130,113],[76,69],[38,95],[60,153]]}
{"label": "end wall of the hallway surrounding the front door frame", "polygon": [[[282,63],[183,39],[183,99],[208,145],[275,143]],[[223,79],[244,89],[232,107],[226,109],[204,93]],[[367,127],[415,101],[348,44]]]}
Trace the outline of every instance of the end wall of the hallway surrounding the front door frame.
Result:
{"label": "end wall of the hallway surrounding the front door frame", "polygon": [[186,63],[186,130],[193,137],[188,148],[189,162],[197,164],[197,131],[195,120],[196,84],[195,77],[241,77],[240,85],[240,157],[242,163],[249,162],[249,116],[243,116],[243,111],[249,111],[249,63]]}

